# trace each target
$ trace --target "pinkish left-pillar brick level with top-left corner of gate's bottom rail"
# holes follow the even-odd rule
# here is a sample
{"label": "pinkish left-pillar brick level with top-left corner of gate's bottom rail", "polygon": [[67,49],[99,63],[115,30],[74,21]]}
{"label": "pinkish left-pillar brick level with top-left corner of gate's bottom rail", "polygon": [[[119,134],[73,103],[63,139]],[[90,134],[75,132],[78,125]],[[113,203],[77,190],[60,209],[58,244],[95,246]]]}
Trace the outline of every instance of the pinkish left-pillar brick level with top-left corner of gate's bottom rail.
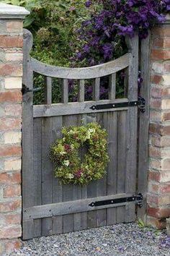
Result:
{"label": "pinkish left-pillar brick level with top-left corner of gate's bottom rail", "polygon": [[9,202],[0,202],[0,213],[12,212],[22,206],[22,200],[13,200]]}

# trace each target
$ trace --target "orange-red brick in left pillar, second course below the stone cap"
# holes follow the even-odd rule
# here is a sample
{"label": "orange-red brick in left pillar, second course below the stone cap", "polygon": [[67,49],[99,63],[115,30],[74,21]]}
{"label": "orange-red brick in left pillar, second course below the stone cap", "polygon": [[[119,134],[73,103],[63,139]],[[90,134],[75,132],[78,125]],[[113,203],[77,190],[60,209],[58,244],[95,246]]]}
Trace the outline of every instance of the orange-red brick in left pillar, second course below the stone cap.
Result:
{"label": "orange-red brick in left pillar, second course below the stone cap", "polygon": [[0,47],[1,48],[22,48],[23,38],[22,36],[12,35],[0,35]]}

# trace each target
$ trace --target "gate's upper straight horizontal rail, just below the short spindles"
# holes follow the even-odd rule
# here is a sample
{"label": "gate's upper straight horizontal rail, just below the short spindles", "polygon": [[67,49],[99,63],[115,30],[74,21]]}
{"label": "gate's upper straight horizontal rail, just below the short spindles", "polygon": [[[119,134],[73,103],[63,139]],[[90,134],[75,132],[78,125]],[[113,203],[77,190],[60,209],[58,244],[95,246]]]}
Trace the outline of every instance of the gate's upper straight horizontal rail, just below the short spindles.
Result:
{"label": "gate's upper straight horizontal rail, just below the short spindles", "polygon": [[90,113],[100,113],[106,111],[122,111],[127,110],[128,107],[123,108],[109,108],[100,109],[100,110],[91,110],[91,107],[94,105],[102,105],[107,103],[122,103],[128,102],[128,99],[116,99],[112,101],[86,101],[86,102],[75,102],[75,103],[67,103],[67,104],[53,104],[53,105],[37,105],[33,108],[34,117],[46,117],[46,116],[67,116],[67,115],[75,115],[75,114],[90,114]]}

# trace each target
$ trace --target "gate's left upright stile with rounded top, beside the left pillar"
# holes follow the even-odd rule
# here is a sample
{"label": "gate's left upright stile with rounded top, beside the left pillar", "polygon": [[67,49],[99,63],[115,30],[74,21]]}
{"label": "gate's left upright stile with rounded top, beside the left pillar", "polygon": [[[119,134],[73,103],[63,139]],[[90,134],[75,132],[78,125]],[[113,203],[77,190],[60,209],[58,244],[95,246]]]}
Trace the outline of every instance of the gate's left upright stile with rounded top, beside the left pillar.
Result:
{"label": "gate's left upright stile with rounded top, beside the left pillar", "polygon": [[[30,51],[32,48],[32,34],[24,30],[24,59],[23,59],[23,85],[30,90],[33,89],[33,72],[30,61]],[[34,206],[35,185],[33,166],[33,93],[25,93],[22,101],[22,207]],[[22,238],[32,239],[33,221],[23,221]]]}

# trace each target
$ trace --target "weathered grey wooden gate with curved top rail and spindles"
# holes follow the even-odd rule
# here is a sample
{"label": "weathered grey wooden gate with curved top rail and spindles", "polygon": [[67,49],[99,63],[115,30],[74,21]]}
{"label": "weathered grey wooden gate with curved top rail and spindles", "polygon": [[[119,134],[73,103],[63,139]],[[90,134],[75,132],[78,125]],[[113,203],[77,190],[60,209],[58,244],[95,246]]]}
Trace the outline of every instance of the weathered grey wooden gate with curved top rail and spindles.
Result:
{"label": "weathered grey wooden gate with curved top rail and spindles", "polygon": [[[30,58],[31,47],[32,35],[25,31],[23,239],[135,221],[135,201],[125,198],[136,195],[138,36],[128,40],[128,54],[107,64],[79,69],[42,64]],[[122,69],[128,70],[128,96],[116,99],[116,73]],[[33,72],[46,77],[44,105],[33,106]],[[105,76],[109,76],[109,98],[100,101],[100,78]],[[62,103],[52,104],[53,77],[63,80]],[[84,101],[84,80],[89,79],[94,80],[93,101]],[[68,80],[79,80],[76,103],[68,102]],[[91,109],[92,106],[97,108]],[[82,119],[86,123],[97,121],[107,129],[107,176],[86,187],[62,185],[53,177],[49,148],[61,137],[62,127],[80,125]],[[105,200],[110,203],[90,206],[91,202]]]}

